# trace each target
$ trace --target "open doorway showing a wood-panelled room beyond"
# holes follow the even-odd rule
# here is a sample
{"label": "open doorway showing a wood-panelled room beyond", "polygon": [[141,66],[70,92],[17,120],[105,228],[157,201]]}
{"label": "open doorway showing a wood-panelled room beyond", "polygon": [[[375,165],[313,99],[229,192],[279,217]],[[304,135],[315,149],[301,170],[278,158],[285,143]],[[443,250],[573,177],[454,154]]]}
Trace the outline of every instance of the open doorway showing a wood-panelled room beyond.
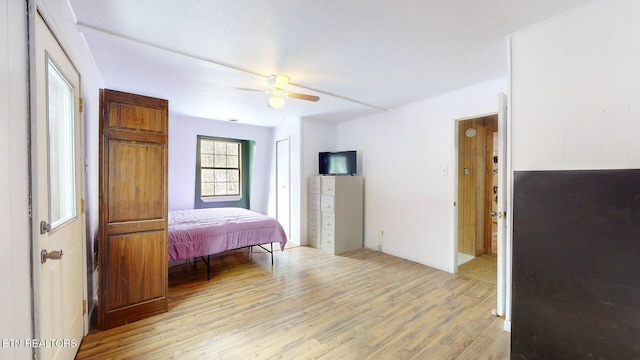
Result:
{"label": "open doorway showing a wood-panelled room beyond", "polygon": [[495,283],[498,115],[459,121],[457,135],[458,271]]}

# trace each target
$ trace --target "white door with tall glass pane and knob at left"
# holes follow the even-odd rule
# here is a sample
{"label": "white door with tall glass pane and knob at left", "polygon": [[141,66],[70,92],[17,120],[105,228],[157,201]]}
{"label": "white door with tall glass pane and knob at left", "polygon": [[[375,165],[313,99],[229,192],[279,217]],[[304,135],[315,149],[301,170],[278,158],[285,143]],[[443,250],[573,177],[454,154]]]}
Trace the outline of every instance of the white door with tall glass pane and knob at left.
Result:
{"label": "white door with tall glass pane and knob at left", "polygon": [[[32,120],[34,329],[40,359],[73,359],[83,335],[83,166],[80,75],[36,20]],[[47,256],[42,256],[43,254]]]}

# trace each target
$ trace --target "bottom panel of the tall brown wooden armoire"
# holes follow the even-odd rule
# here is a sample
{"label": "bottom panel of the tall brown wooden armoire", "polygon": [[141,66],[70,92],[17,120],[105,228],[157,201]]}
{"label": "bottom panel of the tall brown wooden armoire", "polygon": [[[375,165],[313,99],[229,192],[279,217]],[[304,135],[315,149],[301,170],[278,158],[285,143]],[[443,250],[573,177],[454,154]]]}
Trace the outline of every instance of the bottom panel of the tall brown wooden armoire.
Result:
{"label": "bottom panel of the tall brown wooden armoire", "polygon": [[165,296],[167,247],[163,230],[110,236],[106,250],[108,311]]}

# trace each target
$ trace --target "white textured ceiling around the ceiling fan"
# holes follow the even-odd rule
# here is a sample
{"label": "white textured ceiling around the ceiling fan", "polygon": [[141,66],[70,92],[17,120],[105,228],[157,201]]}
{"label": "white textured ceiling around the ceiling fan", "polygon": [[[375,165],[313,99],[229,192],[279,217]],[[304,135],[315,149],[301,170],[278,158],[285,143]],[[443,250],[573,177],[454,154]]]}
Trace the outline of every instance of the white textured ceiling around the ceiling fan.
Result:
{"label": "white textured ceiling around the ceiling fan", "polygon": [[[68,0],[108,88],[172,113],[344,121],[505,76],[505,37],[590,0]],[[319,95],[267,107],[266,77]]]}

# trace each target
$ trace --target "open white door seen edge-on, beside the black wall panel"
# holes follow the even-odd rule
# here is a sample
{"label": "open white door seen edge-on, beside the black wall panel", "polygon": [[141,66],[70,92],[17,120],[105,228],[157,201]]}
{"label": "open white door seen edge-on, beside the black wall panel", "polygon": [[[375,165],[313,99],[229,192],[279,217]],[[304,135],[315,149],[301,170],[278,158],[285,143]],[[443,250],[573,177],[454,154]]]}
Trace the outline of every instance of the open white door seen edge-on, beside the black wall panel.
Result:
{"label": "open white door seen edge-on, beside the black wall panel", "polygon": [[505,314],[506,302],[506,259],[509,256],[507,238],[507,95],[498,94],[498,302],[497,315]]}

